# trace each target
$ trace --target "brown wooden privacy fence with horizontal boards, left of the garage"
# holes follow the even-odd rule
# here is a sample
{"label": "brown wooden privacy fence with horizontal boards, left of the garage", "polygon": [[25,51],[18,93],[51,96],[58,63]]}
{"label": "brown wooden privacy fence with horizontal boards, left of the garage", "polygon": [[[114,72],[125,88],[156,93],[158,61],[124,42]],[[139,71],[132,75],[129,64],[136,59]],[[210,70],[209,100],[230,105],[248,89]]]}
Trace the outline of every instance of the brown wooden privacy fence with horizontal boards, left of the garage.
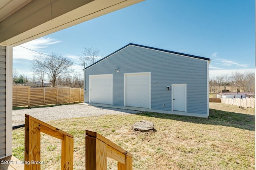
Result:
{"label": "brown wooden privacy fence with horizontal boards, left of the garage", "polygon": [[12,87],[12,107],[40,106],[84,101],[81,88],[30,88],[30,86]]}

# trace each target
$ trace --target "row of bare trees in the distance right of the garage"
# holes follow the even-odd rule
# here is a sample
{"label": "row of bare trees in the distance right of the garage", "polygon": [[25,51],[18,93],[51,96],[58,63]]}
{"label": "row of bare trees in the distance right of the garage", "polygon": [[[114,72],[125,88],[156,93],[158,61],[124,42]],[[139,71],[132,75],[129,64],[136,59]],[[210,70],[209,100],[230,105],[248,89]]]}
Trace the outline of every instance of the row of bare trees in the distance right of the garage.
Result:
{"label": "row of bare trees in the distance right of the garage", "polygon": [[252,92],[255,93],[254,72],[238,72],[222,74],[209,80],[209,92]]}

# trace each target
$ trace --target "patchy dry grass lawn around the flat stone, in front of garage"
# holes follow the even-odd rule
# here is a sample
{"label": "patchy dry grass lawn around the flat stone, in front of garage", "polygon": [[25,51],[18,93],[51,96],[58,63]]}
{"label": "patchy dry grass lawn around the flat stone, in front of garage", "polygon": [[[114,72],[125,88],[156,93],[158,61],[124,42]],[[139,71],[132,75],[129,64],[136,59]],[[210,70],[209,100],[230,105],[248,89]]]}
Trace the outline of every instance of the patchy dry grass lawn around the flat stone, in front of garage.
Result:
{"label": "patchy dry grass lawn around the flat stone, in front of garage", "polygon": [[[74,135],[74,169],[85,169],[85,130],[96,131],[133,154],[134,170],[253,170],[255,169],[255,110],[210,103],[209,119],[138,113],[63,119],[48,122]],[[140,120],[156,131],[134,132]],[[61,143],[42,133],[43,169],[60,169]],[[24,160],[24,128],[13,130],[13,155]],[[117,163],[108,159],[108,170]]]}

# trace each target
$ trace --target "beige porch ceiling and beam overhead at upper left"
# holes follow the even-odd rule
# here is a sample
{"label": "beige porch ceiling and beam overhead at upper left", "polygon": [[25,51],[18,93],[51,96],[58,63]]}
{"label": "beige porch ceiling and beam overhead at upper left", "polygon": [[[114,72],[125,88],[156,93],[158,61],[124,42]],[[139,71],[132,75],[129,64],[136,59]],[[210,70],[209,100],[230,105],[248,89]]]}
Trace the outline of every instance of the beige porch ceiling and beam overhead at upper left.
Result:
{"label": "beige porch ceiling and beam overhead at upper left", "polygon": [[17,46],[143,0],[1,0],[0,44]]}

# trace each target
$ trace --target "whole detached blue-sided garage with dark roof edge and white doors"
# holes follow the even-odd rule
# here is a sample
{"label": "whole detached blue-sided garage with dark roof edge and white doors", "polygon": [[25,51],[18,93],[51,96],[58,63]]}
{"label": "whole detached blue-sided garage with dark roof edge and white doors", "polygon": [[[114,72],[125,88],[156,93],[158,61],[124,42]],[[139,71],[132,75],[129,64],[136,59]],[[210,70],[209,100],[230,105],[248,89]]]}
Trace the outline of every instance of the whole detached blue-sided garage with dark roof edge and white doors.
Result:
{"label": "whole detached blue-sided garage with dark roof edge and white doors", "polygon": [[85,103],[209,116],[210,59],[128,44],[84,69]]}

